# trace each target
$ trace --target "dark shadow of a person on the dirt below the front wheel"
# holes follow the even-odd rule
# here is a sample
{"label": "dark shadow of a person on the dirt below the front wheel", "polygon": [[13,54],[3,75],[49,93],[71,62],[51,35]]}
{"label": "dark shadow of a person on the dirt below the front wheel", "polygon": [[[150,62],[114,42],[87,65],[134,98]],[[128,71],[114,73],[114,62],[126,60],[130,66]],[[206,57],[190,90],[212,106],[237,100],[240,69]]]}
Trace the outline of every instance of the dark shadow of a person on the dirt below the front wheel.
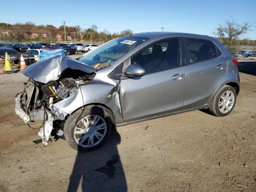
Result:
{"label": "dark shadow of a person on the dirt below the front wheel", "polygon": [[117,149],[120,141],[120,134],[112,128],[112,133],[100,148],[78,151],[68,192],[76,192],[80,182],[83,192],[126,192],[126,178]]}

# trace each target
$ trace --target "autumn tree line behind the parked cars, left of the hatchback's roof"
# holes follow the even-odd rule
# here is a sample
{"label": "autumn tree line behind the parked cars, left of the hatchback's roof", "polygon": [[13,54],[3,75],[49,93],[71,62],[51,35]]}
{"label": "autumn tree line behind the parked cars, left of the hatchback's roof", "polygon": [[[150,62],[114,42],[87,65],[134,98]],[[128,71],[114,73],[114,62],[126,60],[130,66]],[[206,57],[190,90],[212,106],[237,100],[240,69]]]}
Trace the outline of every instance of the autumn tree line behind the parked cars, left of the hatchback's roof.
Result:
{"label": "autumn tree line behind the parked cars, left of the hatchback's roof", "polygon": [[[89,28],[82,29],[79,25],[66,26],[66,41],[79,42],[85,41],[105,43],[114,38],[131,34],[132,30],[126,29],[120,32],[110,33],[104,29],[98,31],[98,26],[92,25]],[[31,34],[37,34],[32,36]],[[55,27],[51,24],[36,25],[32,22],[26,23],[0,23],[0,40],[2,42],[57,42],[64,41],[64,25]]]}

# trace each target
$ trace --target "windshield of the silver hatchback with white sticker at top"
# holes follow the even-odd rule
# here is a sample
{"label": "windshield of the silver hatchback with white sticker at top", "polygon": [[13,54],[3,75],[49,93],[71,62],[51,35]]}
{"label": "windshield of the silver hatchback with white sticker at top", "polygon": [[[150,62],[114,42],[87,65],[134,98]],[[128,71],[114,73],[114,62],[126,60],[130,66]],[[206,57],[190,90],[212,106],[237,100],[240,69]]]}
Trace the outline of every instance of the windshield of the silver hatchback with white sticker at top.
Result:
{"label": "windshield of the silver hatchback with white sticker at top", "polygon": [[116,38],[89,52],[80,58],[79,61],[94,66],[95,68],[97,64],[102,64],[103,67],[97,66],[104,68],[146,40],[146,38],[138,37]]}

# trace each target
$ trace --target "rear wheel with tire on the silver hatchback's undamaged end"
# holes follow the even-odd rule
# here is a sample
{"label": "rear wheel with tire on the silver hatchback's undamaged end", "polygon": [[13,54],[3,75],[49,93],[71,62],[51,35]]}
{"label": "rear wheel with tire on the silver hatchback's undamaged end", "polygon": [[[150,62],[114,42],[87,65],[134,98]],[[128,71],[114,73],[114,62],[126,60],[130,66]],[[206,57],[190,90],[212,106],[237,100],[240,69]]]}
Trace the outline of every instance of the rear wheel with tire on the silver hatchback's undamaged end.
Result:
{"label": "rear wheel with tire on the silver hatchback's undamaged end", "polygon": [[209,107],[209,111],[215,116],[224,117],[232,112],[235,105],[236,90],[232,86],[224,85],[214,96],[212,104]]}

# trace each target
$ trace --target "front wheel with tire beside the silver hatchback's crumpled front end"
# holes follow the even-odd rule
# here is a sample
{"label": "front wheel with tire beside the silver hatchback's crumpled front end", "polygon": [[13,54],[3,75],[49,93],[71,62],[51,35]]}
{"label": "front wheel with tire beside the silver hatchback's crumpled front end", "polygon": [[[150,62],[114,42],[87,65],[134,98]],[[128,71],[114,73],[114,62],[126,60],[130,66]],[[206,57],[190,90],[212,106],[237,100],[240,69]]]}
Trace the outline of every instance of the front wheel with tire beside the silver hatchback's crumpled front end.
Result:
{"label": "front wheel with tire beside the silver hatchback's crumpled front end", "polygon": [[[87,119],[85,117],[87,117]],[[98,127],[100,128],[100,130],[95,130],[96,126],[94,127],[92,125],[94,118],[96,118],[96,120],[98,119],[95,125],[101,125],[100,127]],[[74,112],[74,114],[71,114],[66,120],[64,124],[65,139],[70,147],[77,151],[86,152],[89,150],[94,150],[104,144],[107,137],[111,133],[113,119],[114,118],[112,112],[108,108],[94,105],[86,106],[83,112],[82,109],[77,110],[76,112]],[[86,122],[91,123],[88,126]],[[85,125],[87,125],[88,127],[86,128]],[[74,131],[82,133],[76,134]],[[104,137],[102,137],[102,135]],[[86,139],[82,141],[84,138]],[[92,145],[92,140],[94,141],[94,145]],[[82,143],[78,144],[79,141],[82,141]]]}

